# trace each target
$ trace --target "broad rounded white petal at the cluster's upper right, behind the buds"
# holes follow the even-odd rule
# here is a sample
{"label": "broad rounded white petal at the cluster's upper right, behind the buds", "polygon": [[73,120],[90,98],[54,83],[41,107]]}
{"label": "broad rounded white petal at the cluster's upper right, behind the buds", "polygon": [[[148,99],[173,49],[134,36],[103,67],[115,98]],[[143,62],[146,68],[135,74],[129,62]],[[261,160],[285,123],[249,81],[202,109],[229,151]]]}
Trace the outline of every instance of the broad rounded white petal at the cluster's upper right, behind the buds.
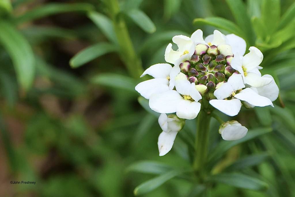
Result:
{"label": "broad rounded white petal at the cluster's upper right, behind the buds", "polygon": [[232,47],[232,53],[239,53],[240,55],[244,55],[246,52],[246,41],[235,35],[228,34],[225,36],[227,38],[227,44]]}

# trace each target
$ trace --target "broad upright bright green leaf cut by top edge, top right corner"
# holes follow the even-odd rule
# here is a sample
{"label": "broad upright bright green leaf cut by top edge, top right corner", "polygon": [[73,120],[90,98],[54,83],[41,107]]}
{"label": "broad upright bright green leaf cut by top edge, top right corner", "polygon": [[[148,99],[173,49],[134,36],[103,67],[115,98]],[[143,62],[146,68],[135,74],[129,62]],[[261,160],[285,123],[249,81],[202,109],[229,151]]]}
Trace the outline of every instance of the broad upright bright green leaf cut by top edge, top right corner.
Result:
{"label": "broad upright bright green leaf cut by top edge, top right corner", "polygon": [[261,8],[262,23],[266,25],[268,35],[271,35],[278,25],[281,15],[280,0],[263,0]]}

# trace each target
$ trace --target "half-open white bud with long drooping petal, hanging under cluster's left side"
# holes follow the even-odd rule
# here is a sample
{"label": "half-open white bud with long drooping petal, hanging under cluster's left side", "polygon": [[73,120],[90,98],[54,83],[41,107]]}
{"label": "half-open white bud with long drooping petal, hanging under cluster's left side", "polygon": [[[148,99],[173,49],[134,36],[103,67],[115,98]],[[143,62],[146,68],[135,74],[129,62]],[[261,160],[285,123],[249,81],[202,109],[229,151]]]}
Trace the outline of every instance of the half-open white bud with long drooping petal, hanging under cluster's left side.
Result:
{"label": "half-open white bud with long drooping petal, hanging under cluster's left side", "polygon": [[178,131],[184,126],[184,121],[174,114],[162,113],[158,122],[163,130],[158,137],[158,149],[159,155],[163,156],[171,150]]}

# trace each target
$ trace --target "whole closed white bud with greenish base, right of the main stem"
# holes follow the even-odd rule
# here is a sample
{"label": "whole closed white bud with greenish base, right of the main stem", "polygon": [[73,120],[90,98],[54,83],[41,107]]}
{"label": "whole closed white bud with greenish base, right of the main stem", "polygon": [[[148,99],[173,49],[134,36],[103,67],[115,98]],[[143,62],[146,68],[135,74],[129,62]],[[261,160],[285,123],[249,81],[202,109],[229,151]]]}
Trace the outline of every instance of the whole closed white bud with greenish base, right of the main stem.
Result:
{"label": "whole closed white bud with greenish base, right of the main stem", "polygon": [[219,133],[224,140],[238,140],[246,136],[248,128],[238,121],[227,121],[219,127]]}

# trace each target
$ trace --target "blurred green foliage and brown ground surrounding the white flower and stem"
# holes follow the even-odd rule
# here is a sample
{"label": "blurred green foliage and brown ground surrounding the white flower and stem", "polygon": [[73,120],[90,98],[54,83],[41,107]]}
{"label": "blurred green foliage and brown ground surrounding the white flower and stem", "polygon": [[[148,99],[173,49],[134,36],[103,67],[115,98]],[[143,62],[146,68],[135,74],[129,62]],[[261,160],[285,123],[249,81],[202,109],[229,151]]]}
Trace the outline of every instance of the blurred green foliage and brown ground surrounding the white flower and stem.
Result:
{"label": "blurred green foliage and brown ground surrounding the white flower and stem", "polygon": [[[159,157],[158,114],[134,87],[174,35],[199,28],[263,51],[280,96],[242,108],[245,139],[224,142],[211,122],[206,170],[248,179],[187,175],[142,196],[295,196],[294,0],[1,0],[0,16],[0,196],[133,196],[167,168],[189,169],[195,120]],[[10,184],[22,180],[36,184]]]}

